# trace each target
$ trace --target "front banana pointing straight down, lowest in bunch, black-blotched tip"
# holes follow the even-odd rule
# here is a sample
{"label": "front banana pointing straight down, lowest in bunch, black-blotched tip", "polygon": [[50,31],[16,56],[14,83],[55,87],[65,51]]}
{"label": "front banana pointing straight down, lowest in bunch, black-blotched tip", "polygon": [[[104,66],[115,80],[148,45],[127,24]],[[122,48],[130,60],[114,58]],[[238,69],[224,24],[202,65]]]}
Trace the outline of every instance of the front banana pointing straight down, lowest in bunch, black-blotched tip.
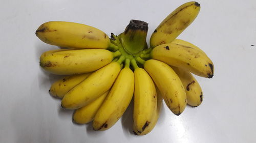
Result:
{"label": "front banana pointing straight down, lowest in bunch, black-blotched tip", "polygon": [[144,69],[139,68],[135,61],[132,62],[135,68],[134,129],[138,134],[144,134],[144,131],[151,126],[157,110],[157,93],[150,75]]}

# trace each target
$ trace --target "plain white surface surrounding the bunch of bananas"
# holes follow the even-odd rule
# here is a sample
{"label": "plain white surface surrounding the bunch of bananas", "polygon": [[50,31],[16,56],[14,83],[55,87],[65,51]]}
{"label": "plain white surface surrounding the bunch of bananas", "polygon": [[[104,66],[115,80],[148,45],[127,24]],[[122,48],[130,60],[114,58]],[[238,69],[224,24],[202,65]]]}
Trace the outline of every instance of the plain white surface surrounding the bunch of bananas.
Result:
{"label": "plain white surface surrounding the bunch of bananas", "polygon": [[[164,105],[154,130],[133,135],[132,106],[104,132],[72,123],[48,90],[60,76],[39,67],[37,27],[72,21],[120,34],[131,19],[156,26],[188,1],[4,1],[0,4],[0,142],[255,142],[256,1],[198,1],[201,11],[179,36],[202,48],[215,65],[212,79],[197,77],[204,101],[179,117]],[[255,45],[255,46],[252,46]]]}

